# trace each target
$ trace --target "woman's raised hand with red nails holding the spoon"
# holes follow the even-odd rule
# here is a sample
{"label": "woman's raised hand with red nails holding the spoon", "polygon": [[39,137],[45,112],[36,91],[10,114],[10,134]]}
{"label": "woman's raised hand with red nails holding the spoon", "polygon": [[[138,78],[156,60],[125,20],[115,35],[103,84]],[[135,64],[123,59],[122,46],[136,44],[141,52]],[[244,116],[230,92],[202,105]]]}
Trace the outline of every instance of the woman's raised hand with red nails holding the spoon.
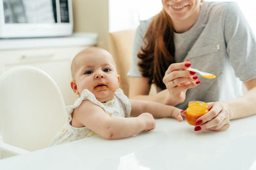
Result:
{"label": "woman's raised hand with red nails holding the spoon", "polygon": [[173,63],[166,70],[163,78],[163,83],[169,92],[166,104],[175,106],[184,102],[186,90],[196,87],[200,83],[199,80],[196,81],[198,76],[195,76],[195,72],[185,70],[190,66],[189,60],[186,60],[186,62]]}

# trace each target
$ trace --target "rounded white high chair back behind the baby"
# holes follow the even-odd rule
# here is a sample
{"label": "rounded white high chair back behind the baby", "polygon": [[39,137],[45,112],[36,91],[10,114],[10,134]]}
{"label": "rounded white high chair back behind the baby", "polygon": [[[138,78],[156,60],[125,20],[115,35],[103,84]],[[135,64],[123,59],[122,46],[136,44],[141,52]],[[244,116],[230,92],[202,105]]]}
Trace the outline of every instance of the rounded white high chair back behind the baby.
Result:
{"label": "rounded white high chair back behind the baby", "polygon": [[0,76],[0,105],[3,142],[28,151],[47,147],[67,121],[60,89],[35,67],[14,67]]}

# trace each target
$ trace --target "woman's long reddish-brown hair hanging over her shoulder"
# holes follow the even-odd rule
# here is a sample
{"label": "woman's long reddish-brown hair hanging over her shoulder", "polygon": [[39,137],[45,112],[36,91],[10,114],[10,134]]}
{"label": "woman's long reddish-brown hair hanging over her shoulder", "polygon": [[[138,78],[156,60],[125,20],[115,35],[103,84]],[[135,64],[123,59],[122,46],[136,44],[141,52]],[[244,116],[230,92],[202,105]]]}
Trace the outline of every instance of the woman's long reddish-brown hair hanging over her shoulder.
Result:
{"label": "woman's long reddish-brown hair hanging over her shoulder", "polygon": [[141,74],[149,78],[148,83],[156,83],[158,87],[165,89],[164,73],[175,62],[172,20],[166,11],[162,10],[152,18],[144,40],[145,47],[141,47],[141,52],[138,53]]}

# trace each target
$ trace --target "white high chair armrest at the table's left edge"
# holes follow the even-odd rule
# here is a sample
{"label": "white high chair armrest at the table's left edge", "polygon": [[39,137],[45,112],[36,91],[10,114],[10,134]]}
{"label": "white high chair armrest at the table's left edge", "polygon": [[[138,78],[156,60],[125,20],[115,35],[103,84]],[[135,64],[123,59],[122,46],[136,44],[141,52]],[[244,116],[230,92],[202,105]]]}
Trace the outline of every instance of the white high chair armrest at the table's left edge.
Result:
{"label": "white high chair armrest at the table's left edge", "polygon": [[2,141],[0,142],[0,159],[24,153],[29,153],[29,151],[13,145],[9,145],[7,143],[3,143]]}

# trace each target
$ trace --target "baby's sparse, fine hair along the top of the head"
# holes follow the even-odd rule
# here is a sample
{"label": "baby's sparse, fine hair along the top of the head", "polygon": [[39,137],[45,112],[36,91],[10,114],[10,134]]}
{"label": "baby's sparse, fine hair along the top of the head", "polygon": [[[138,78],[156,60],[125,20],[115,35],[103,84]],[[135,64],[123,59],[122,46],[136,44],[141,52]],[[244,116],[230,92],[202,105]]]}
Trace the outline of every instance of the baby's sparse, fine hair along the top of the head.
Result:
{"label": "baby's sparse, fine hair along the top of the head", "polygon": [[[99,48],[97,46],[92,46],[92,47],[86,48],[86,49],[82,50],[81,52],[77,53],[77,55],[74,57],[74,59],[72,60],[72,63],[71,63],[71,74],[72,74],[73,80],[74,80],[74,74],[76,73],[77,59],[79,59],[79,57],[84,57],[86,55],[89,55],[89,54],[92,54],[95,52],[100,52],[100,51],[106,53],[106,55],[111,56],[111,58],[113,59],[112,55],[108,51],[104,50],[103,48]],[[113,60],[113,64],[116,67],[114,60]]]}

